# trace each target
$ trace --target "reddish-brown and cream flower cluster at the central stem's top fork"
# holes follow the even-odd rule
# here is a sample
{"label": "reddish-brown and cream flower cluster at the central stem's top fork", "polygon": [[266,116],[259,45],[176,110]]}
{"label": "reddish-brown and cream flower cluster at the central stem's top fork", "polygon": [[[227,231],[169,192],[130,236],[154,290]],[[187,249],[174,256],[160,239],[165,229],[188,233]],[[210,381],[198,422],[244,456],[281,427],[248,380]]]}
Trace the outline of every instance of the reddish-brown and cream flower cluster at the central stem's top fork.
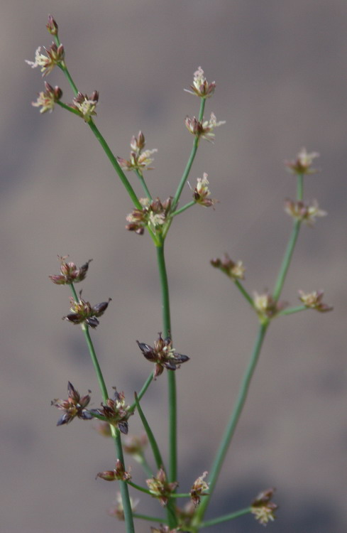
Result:
{"label": "reddish-brown and cream flower cluster at the central stem's top fork", "polygon": [[171,196],[163,203],[159,198],[155,198],[152,201],[149,198],[140,198],[140,203],[143,205],[143,208],[134,209],[126,215],[126,220],[129,222],[126,225],[126,230],[143,235],[145,227],[148,226],[153,232],[160,233],[163,224],[167,222],[170,216],[171,201]]}

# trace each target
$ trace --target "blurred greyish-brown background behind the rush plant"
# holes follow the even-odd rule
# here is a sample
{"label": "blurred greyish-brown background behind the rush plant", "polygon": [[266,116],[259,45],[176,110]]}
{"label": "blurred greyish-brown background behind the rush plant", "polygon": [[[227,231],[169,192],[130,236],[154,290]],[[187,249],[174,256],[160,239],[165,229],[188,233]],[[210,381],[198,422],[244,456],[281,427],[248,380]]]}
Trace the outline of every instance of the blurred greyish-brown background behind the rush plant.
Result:
{"label": "blurred greyish-brown background behind the rush plant", "polygon": [[[31,107],[42,90],[33,60],[50,45],[52,13],[67,65],[82,92],[99,90],[97,125],[116,155],[139,129],[158,148],[148,173],[153,195],[175,188],[192,146],[183,92],[202,65],[216,80],[206,114],[226,124],[202,142],[190,180],[209,174],[216,210],[197,206],[175,220],[167,264],[175,347],[191,361],[177,372],[180,489],[209,470],[238,391],[257,323],[230,281],[209,266],[228,252],[243,259],[249,291],[271,289],[290,234],[284,198],[294,178],[282,161],[302,146],[319,151],[322,172],[305,198],[329,217],[303,227],[284,299],[324,289],[334,313],[298,313],[272,324],[209,516],[246,507],[275,486],[273,532],[346,530],[346,137],[347,6],[343,0],[19,0],[1,6],[1,531],[123,532],[107,515],[116,484],[94,480],[113,468],[111,441],[92,423],[55,427],[50,400],[97,379],[78,327],[61,321],[69,291],[50,283],[57,254],[93,258],[84,296],[113,301],[92,338],[109,387],[129,402],[150,365],[135,340],[161,329],[155,249],[126,232],[131,210],[89,128],[57,108]],[[59,71],[47,78],[72,95]],[[134,180],[134,178],[131,178]],[[136,181],[136,191],[141,195]],[[182,203],[191,198],[184,190]],[[182,205],[181,203],[181,205]],[[143,407],[164,446],[165,375]],[[136,416],[131,431],[138,431]],[[151,461],[150,454],[148,455]],[[131,460],[126,461],[131,464]],[[139,483],[143,477],[133,466]],[[141,497],[138,512],[162,512]],[[136,531],[148,532],[138,522]],[[152,524],[153,525],[153,524]],[[255,532],[244,517],[220,532]],[[212,529],[211,529],[212,530]]]}

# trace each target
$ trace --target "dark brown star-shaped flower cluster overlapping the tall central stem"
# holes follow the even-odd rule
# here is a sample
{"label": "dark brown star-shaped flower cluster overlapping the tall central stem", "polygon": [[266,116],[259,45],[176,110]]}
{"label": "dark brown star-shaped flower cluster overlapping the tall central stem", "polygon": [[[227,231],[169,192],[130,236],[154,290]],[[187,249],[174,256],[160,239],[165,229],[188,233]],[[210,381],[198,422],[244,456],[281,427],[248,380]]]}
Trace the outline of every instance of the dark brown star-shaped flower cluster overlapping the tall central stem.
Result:
{"label": "dark brown star-shaped flower cluster overlapping the tall central stem", "polygon": [[154,379],[163,374],[164,368],[167,370],[176,370],[180,368],[183,362],[187,362],[189,357],[175,352],[172,348],[172,340],[170,337],[162,338],[161,333],[158,333],[159,337],[154,341],[154,348],[145,343],[139,343],[138,348],[145,358],[150,362],[155,362]]}

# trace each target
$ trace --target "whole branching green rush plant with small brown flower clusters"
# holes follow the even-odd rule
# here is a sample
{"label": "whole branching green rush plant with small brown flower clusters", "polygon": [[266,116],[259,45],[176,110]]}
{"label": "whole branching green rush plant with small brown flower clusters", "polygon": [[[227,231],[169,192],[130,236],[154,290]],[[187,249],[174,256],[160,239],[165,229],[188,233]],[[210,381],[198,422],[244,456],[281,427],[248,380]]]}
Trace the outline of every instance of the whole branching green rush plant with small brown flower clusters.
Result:
{"label": "whole branching green rush plant with small brown flower clusters", "polygon": [[[308,153],[306,149],[302,149],[299,151],[297,158],[285,163],[287,170],[296,177],[297,190],[296,198],[287,200],[285,203],[285,211],[292,217],[292,232],[272,292],[250,294],[244,284],[245,267],[240,260],[234,261],[227,254],[224,254],[221,258],[211,260],[211,265],[226,274],[228,277],[226,282],[233,282],[246,301],[246,305],[253,309],[255,318],[258,321],[258,333],[255,337],[248,367],[240,384],[236,403],[231,411],[230,418],[226,421],[224,435],[216,450],[214,460],[211,465],[202,465],[202,475],[196,480],[192,480],[191,485],[184,492],[178,492],[177,488],[180,480],[177,479],[178,406],[176,378],[179,378],[180,372],[184,372],[184,368],[180,372],[177,372],[177,370],[188,362],[189,357],[177,352],[173,345],[174,332],[172,332],[170,321],[170,292],[165,264],[165,240],[175,217],[182,214],[182,212],[189,208],[194,208],[196,205],[213,208],[217,203],[217,200],[211,198],[208,175],[204,173],[201,178],[197,178],[192,187],[189,185],[191,188],[189,202],[179,207],[182,192],[187,189],[189,173],[192,171],[200,144],[203,144],[204,140],[213,142],[216,129],[224,124],[223,121],[217,122],[213,112],[209,113],[207,117],[205,116],[207,101],[214,96],[216,84],[206,80],[201,67],[194,72],[192,85],[187,92],[199,100],[199,109],[197,116],[185,119],[185,126],[189,133],[192,134],[192,150],[182,176],[180,180],[177,180],[176,189],[170,190],[167,193],[167,198],[161,200],[150,192],[145,181],[145,171],[150,170],[153,154],[156,150],[145,148],[145,136],[142,131],[139,131],[138,135],[133,136],[131,139],[128,158],[114,156],[104,136],[102,136],[95,124],[99,93],[94,91],[91,95],[87,95],[78,90],[70,70],[67,68],[65,48],[60,43],[58,26],[52,16],[48,18],[47,29],[50,35],[53,36],[53,43],[48,48],[42,49],[39,47],[35,53],[35,60],[28,61],[28,63],[33,68],[40,68],[43,77],[50,74],[57,67],[70,83],[73,99],[71,104],[63,102],[60,87],[53,87],[45,81],[44,90],[39,93],[37,100],[33,102],[33,106],[40,108],[40,113],[52,112],[57,106],[75,114],[77,119],[82,119],[88,124],[133,203],[133,209],[126,215],[126,229],[136,232],[138,235],[143,235],[147,232],[153,242],[153,251],[155,251],[157,257],[161,287],[161,301],[158,301],[158,306],[161,306],[163,316],[163,322],[157,329],[161,333],[158,334],[155,340],[153,340],[153,333],[149,332],[145,342],[142,339],[136,341],[140,350],[139,355],[142,353],[151,364],[152,369],[148,377],[144,377],[141,390],[134,392],[134,397],[126,401],[123,392],[119,392],[113,387],[114,391],[111,393],[106,386],[92,340],[94,330],[99,325],[99,319],[106,312],[111,298],[94,305],[82,298],[82,291],[77,292],[75,285],[86,278],[90,260],[82,266],[76,266],[67,257],[59,257],[60,273],[50,276],[50,279],[54,284],[70,287],[72,293],[70,311],[63,318],[67,322],[79,325],[82,329],[99,382],[101,406],[98,409],[90,409],[90,391],[81,396],[74,385],[68,382],[67,399],[54,399],[52,402],[53,406],[61,411],[57,425],[70,424],[74,419],[97,419],[100,424],[100,431],[108,434],[114,440],[115,456],[113,460],[110,460],[111,467],[114,466],[114,468],[97,473],[97,477],[102,480],[119,483],[120,495],[117,505],[111,514],[125,521],[126,533],[135,532],[135,524],[138,520],[146,520],[154,524],[151,527],[153,533],[175,533],[178,531],[197,533],[206,527],[213,527],[246,514],[254,515],[260,524],[267,524],[275,518],[275,510],[277,508],[277,505],[272,502],[273,488],[260,492],[253,502],[246,502],[245,507],[241,510],[232,510],[227,515],[216,516],[208,520],[205,519],[205,513],[211,496],[216,490],[219,473],[240,420],[250,382],[258,364],[260,350],[273,319],[307,311],[307,309],[315,309],[319,312],[331,310],[330,306],[323,303],[323,293],[321,291],[299,291],[300,303],[294,307],[288,307],[280,301],[294,247],[303,223],[314,225],[317,217],[326,215],[315,200],[312,203],[304,203],[304,178],[316,172],[313,168],[313,163],[319,154],[315,152]],[[143,189],[142,197],[136,194],[126,176],[127,172],[135,174],[138,178]],[[133,321],[136,322],[136,319],[133,319]],[[136,336],[134,336],[135,340]],[[184,348],[182,350],[184,351]],[[189,364],[194,365],[194,359]],[[167,456],[164,456],[160,451],[155,438],[155,428],[148,424],[145,415],[145,393],[153,385],[155,379],[167,379],[167,417],[169,420],[167,434],[169,453]],[[130,437],[128,436],[128,431],[129,428],[131,429],[131,416],[136,411],[142,421],[145,434],[143,436]],[[153,454],[153,461],[149,462],[145,457],[145,446],[148,443]],[[145,486],[136,483],[136,480],[131,477],[131,473],[126,471],[124,453],[131,454],[133,459],[142,465],[148,476]],[[150,466],[150,463],[155,464],[154,469]],[[129,489],[134,494],[141,494],[143,497],[141,505],[144,507],[146,498],[154,497],[157,499],[158,509],[160,509],[160,506],[163,507],[166,512],[165,516],[163,517],[159,512],[158,516],[155,517],[149,516],[145,512],[139,514],[136,511],[136,501],[130,496]],[[184,505],[177,505],[177,502],[182,501],[182,498],[185,499]],[[148,527],[150,527],[150,524]]]}

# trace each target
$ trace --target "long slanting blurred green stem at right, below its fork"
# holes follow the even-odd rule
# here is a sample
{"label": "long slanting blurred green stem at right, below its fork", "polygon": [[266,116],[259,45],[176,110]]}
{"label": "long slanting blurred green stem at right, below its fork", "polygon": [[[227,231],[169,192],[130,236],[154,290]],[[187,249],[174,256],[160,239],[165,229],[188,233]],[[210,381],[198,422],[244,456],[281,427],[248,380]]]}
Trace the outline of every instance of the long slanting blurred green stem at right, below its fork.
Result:
{"label": "long slanting blurred green stem at right, below its fork", "polygon": [[250,387],[250,382],[253,377],[255,367],[257,366],[257,363],[258,363],[260,350],[263,345],[263,340],[265,338],[265,333],[266,333],[266,330],[268,329],[268,325],[269,325],[269,322],[260,324],[259,326],[258,335],[255,340],[255,345],[253,348],[253,353],[250,357],[250,362],[248,363],[246,372],[243,375],[241,387],[238,392],[238,397],[236,399],[236,405],[228,421],[228,425],[226,426],[224,435],[219,445],[219,450],[216,453],[216,458],[214,459],[214,463],[211,467],[211,473],[209,475],[209,495],[204,497],[204,500],[202,500],[197,510],[197,515],[194,519],[194,527],[196,527],[197,529],[199,529],[199,526],[204,517],[204,513],[206,512],[206,508],[209,505],[209,501],[211,500],[211,495],[214,492],[214,488],[216,487],[216,482],[217,482],[219,473],[221,471],[221,467],[223,465],[226,452],[228,451],[228,447],[230,446],[231,439],[233,438],[233,434],[235,433],[238,420],[240,419],[241,413],[243,411],[243,407],[246,403],[248,390]]}

